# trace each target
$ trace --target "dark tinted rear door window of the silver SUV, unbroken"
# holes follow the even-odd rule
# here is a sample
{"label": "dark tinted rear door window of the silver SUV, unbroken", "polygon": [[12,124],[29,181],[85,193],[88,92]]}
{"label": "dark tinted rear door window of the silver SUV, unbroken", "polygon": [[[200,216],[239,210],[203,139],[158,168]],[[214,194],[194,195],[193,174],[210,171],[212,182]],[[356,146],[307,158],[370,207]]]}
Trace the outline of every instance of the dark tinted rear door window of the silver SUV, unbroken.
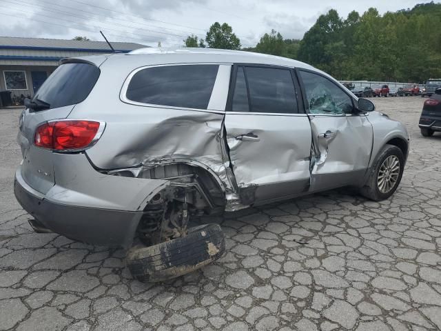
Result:
{"label": "dark tinted rear door window of the silver SUV, unbroken", "polygon": [[232,100],[232,111],[297,113],[296,90],[290,70],[239,67]]}

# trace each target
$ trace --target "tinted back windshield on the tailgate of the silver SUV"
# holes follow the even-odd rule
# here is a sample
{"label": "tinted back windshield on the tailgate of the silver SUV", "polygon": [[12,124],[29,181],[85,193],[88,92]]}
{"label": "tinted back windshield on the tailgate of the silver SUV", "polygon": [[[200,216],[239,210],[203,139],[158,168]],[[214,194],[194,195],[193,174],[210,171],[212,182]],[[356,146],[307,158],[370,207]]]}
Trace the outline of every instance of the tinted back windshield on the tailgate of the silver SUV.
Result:
{"label": "tinted back windshield on the tailgate of the silver SUV", "polygon": [[33,99],[59,108],[80,103],[88,97],[98,80],[100,71],[89,63],[65,63],[45,80]]}

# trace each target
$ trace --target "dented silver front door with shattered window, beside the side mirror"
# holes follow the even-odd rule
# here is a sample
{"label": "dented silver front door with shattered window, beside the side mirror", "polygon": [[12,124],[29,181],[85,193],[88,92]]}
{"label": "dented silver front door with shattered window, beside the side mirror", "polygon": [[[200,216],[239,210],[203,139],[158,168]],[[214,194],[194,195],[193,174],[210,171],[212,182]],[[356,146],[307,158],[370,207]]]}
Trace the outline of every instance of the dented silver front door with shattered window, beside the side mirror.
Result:
{"label": "dented silver front door with shattered window, beside the side mirror", "polygon": [[353,99],[325,75],[299,70],[311,121],[314,154],[311,191],[357,185],[369,165],[373,128],[353,114]]}

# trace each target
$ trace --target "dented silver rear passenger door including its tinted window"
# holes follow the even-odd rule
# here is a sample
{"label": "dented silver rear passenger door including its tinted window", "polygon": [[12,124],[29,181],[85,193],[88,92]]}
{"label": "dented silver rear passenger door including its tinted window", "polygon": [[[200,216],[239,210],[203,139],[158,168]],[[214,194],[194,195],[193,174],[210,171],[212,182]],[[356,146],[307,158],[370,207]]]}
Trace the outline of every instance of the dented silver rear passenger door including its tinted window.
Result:
{"label": "dented silver rear passenger door including its tinted window", "polygon": [[234,67],[225,130],[243,204],[309,188],[311,128],[294,78],[289,68]]}

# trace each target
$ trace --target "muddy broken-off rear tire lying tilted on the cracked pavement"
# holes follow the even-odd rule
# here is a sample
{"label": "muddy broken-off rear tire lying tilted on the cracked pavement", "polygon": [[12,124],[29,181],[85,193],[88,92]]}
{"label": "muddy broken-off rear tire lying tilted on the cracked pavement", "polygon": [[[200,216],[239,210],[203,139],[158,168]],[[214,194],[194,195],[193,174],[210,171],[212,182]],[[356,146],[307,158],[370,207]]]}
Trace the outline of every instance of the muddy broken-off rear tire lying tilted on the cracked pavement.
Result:
{"label": "muddy broken-off rear tire lying tilted on the cracked pavement", "polygon": [[212,263],[225,251],[225,237],[217,224],[189,228],[186,237],[127,252],[127,266],[139,281],[165,281]]}

